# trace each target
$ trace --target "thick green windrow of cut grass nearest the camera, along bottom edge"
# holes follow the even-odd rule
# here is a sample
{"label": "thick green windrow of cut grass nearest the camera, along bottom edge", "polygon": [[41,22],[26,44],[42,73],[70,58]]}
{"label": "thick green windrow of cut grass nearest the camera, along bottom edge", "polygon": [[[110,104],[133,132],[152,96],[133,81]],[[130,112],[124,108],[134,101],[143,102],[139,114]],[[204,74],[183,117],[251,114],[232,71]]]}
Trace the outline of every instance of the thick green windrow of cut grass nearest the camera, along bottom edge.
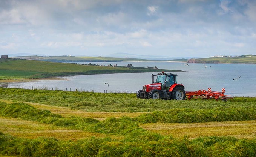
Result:
{"label": "thick green windrow of cut grass nearest the camera, along bottom edge", "polygon": [[256,141],[233,137],[201,137],[189,141],[171,136],[143,134],[124,140],[87,138],[23,139],[0,133],[0,154],[15,156],[256,156]]}

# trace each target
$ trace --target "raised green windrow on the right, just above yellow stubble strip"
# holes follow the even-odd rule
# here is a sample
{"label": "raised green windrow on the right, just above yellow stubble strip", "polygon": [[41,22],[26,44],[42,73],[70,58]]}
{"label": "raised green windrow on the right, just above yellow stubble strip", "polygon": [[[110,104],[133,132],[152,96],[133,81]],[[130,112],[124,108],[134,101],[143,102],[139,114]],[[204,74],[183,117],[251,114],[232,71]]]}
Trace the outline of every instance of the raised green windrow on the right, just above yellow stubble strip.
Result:
{"label": "raised green windrow on the right, just above yellow stubble strip", "polygon": [[256,120],[256,108],[171,109],[133,118],[139,123],[202,123],[211,121]]}

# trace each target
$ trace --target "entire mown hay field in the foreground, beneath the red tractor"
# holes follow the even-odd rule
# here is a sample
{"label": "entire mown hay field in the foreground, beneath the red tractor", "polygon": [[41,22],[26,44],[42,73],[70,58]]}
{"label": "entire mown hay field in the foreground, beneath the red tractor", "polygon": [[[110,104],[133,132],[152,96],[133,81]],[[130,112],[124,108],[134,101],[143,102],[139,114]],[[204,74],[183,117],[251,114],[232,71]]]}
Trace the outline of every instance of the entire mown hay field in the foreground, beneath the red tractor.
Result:
{"label": "entire mown hay field in the foreground, beneath the red tractor", "polygon": [[0,88],[6,156],[256,156],[256,99]]}

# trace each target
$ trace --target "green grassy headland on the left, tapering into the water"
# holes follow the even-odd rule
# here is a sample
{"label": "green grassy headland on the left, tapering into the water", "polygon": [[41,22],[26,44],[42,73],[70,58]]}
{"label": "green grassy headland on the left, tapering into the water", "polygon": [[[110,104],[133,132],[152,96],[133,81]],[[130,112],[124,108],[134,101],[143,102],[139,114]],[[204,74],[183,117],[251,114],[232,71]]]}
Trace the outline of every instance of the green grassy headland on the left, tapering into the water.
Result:
{"label": "green grassy headland on the left, tapering into the water", "polygon": [[[159,69],[162,70],[162,69]],[[31,79],[47,78],[65,75],[89,75],[103,73],[136,73],[136,72],[159,72],[155,69],[140,67],[107,67],[90,66],[68,63],[54,63],[35,60],[2,60],[0,62],[0,80],[3,79]],[[171,70],[169,71],[180,71]]]}

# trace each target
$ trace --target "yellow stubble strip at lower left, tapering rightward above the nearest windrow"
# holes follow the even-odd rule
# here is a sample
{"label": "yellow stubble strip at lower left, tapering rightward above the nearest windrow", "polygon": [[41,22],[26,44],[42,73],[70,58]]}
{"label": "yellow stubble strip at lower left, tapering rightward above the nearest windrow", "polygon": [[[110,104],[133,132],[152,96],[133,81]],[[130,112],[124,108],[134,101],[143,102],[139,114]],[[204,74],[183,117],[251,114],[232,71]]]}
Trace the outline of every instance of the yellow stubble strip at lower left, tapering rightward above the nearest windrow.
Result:
{"label": "yellow stubble strip at lower left, tapering rightward above the nearest windrow", "polygon": [[22,120],[20,118],[0,117],[0,132],[19,138],[36,139],[38,137],[56,138],[59,140],[78,140],[92,136],[98,138],[112,137],[121,139],[123,136],[106,135],[86,130],[69,129],[67,127],[43,124],[37,121]]}

